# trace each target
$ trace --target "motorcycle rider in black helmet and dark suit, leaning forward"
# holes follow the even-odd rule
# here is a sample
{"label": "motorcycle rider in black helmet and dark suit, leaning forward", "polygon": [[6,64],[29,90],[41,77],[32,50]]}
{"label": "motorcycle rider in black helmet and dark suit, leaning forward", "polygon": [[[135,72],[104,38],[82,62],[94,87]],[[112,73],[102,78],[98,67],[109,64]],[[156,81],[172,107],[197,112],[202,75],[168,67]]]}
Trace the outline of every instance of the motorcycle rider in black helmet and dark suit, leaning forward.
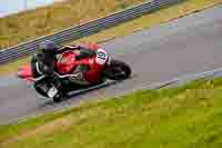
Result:
{"label": "motorcycle rider in black helmet and dark suit, leaning forward", "polygon": [[[65,97],[60,78],[54,72],[54,59],[57,55],[63,53],[68,50],[73,50],[78,52],[75,57],[77,60],[87,57],[93,57],[97,55],[94,50],[89,50],[87,47],[82,46],[65,46],[63,48],[58,48],[52,41],[47,40],[39,45],[39,52],[34,53],[31,58],[31,68],[34,78],[44,75],[54,87],[60,90],[61,96]],[[73,73],[75,73],[77,81],[83,81],[83,72],[89,70],[88,66],[79,65]],[[47,91],[47,90],[46,90]]]}

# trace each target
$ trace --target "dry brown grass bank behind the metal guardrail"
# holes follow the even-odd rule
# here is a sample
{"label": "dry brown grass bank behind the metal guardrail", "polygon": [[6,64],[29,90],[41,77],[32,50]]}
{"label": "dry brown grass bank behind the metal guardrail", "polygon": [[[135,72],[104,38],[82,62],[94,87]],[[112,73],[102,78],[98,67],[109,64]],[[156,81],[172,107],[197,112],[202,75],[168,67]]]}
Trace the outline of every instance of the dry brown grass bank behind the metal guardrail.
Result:
{"label": "dry brown grass bank behind the metal guardrail", "polygon": [[31,38],[49,34],[142,1],[64,0],[50,7],[0,18],[0,47],[6,48]]}

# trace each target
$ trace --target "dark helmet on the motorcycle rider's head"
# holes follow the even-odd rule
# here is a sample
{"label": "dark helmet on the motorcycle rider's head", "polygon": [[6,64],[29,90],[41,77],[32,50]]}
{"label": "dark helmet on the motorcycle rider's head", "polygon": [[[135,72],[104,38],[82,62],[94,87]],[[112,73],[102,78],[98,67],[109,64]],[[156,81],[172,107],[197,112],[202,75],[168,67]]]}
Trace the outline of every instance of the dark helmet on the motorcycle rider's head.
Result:
{"label": "dark helmet on the motorcycle rider's head", "polygon": [[43,53],[53,53],[58,48],[53,41],[46,40],[39,43],[39,49],[42,50]]}

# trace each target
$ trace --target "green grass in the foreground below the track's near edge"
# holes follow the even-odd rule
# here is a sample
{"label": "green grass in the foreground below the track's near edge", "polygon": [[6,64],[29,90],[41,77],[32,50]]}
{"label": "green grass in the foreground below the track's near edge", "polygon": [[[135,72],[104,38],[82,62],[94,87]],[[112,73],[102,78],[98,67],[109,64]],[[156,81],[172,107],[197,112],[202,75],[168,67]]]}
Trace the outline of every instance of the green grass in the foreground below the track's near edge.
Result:
{"label": "green grass in the foreground below the track's near edge", "polygon": [[220,148],[222,79],[143,90],[1,126],[8,148]]}

